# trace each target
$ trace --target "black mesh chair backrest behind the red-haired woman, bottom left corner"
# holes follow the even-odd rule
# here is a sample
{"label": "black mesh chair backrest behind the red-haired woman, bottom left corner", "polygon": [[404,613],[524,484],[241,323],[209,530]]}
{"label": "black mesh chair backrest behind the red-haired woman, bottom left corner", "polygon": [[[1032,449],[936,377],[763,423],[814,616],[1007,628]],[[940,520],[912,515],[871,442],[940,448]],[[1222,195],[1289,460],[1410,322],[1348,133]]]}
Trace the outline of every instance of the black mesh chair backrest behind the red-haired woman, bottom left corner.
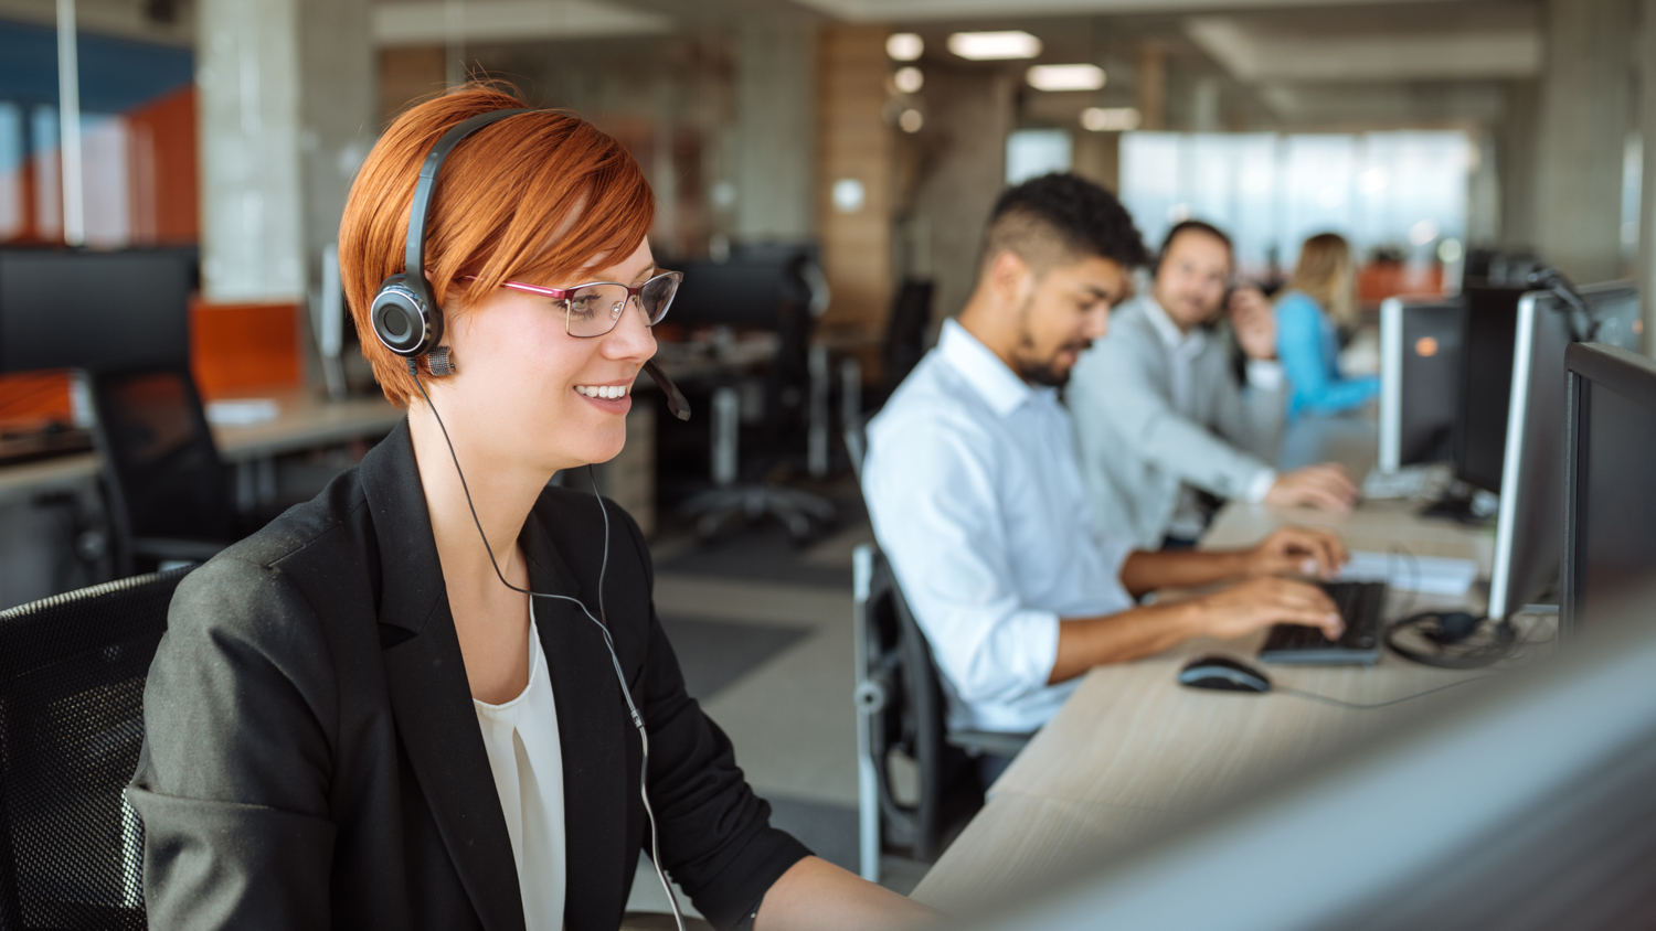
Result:
{"label": "black mesh chair backrest behind the red-haired woman, bottom left corner", "polygon": [[0,612],[0,928],[146,928],[142,824],[121,790],[187,572]]}

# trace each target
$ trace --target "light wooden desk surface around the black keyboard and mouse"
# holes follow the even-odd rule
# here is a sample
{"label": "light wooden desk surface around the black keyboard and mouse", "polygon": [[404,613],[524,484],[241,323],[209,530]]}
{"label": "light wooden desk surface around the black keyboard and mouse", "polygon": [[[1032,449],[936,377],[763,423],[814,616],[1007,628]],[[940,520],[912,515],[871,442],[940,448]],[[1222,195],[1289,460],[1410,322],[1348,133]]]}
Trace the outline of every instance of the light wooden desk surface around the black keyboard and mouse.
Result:
{"label": "light wooden desk surface around the black keyboard and mouse", "polygon": [[[1229,504],[1204,547],[1247,546],[1282,523],[1317,524],[1338,529],[1355,549],[1403,546],[1416,554],[1467,557],[1487,575],[1487,531],[1423,521],[1414,508],[1379,503],[1353,514],[1326,514]],[[1394,592],[1388,614],[1466,600],[1446,604]],[[914,898],[954,914],[1005,901],[1055,868],[1143,847],[1174,822],[1234,802],[1482,688],[1469,683],[1391,708],[1351,709],[1282,691],[1201,691],[1176,683],[1187,658],[1211,652],[1252,658],[1264,638],[1265,632],[1229,643],[1194,640],[1134,663],[1091,670],[995,782],[989,804],[926,875]],[[1270,675],[1278,686],[1374,704],[1485,673],[1421,666],[1388,653],[1376,666],[1270,666]]]}

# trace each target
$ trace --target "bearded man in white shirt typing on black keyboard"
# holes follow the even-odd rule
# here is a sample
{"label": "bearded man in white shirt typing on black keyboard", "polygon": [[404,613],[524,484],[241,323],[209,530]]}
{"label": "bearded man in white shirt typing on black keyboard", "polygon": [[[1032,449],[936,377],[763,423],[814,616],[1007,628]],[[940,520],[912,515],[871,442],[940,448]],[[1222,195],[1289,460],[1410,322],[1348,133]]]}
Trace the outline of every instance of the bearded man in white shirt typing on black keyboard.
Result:
{"label": "bearded man in white shirt typing on black keyboard", "polygon": [[[1091,182],[1047,175],[1005,192],[965,309],[869,423],[874,536],[942,671],[951,728],[1033,731],[1088,668],[1191,637],[1341,630],[1320,589],[1277,577],[1333,572],[1338,537],[1283,529],[1249,551],[1141,552],[1095,524],[1057,387],[1143,260],[1133,220]],[[1244,580],[1133,600],[1225,579]]]}

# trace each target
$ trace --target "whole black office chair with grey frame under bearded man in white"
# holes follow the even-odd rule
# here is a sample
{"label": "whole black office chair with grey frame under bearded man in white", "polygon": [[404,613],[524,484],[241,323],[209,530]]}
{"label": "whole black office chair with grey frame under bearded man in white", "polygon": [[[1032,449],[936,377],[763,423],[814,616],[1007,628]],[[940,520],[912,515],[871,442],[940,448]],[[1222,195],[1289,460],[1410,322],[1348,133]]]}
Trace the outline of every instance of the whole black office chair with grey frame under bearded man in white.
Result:
{"label": "whole black office chair with grey frame under bearded man in white", "polygon": [[[931,862],[951,830],[984,805],[975,757],[1017,756],[1030,734],[951,731],[937,665],[891,566],[874,544],[853,556],[861,871],[879,853]],[[891,757],[914,762],[917,792],[899,799]]]}

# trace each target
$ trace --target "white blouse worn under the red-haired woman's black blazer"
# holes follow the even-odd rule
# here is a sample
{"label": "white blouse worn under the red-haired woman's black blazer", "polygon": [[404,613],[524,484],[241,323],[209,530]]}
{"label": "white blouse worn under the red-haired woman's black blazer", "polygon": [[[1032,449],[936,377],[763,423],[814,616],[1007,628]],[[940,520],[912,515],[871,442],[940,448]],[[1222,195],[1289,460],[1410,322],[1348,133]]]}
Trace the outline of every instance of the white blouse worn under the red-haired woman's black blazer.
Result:
{"label": "white blouse worn under the red-haired woman's black blazer", "polygon": [[551,673],[535,628],[535,599],[528,607],[528,686],[505,704],[477,706],[489,769],[495,774],[500,810],[512,835],[523,921],[528,931],[563,928],[566,876],[563,847],[563,752]]}

